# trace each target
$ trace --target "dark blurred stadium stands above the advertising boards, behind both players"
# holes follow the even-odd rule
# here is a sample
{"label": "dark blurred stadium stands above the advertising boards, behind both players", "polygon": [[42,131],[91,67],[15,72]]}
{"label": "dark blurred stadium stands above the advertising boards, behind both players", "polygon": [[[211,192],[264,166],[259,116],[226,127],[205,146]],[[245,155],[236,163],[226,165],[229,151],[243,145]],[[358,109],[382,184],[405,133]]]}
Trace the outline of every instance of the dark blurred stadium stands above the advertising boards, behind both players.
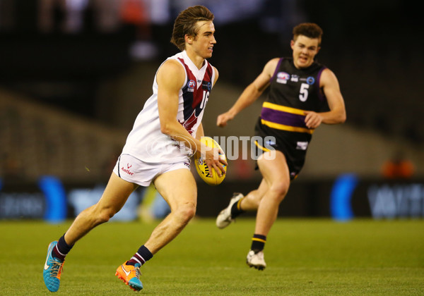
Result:
{"label": "dark blurred stadium stands above the advertising boards, behind both players", "polygon": [[10,166],[30,179],[103,178],[102,166],[122,149],[151,94],[155,70],[177,52],[169,43],[175,16],[194,2],[216,14],[211,63],[220,80],[204,118],[209,135],[252,135],[261,101],[231,129],[217,129],[216,115],[266,61],[290,56],[294,24],[313,21],[324,29],[318,60],[338,76],[348,122],[317,130],[322,141],[312,142],[302,173],[377,176],[383,161],[403,149],[424,175],[416,12],[404,16],[401,1],[384,1],[380,10],[382,1],[312,0],[0,0],[1,173]]}

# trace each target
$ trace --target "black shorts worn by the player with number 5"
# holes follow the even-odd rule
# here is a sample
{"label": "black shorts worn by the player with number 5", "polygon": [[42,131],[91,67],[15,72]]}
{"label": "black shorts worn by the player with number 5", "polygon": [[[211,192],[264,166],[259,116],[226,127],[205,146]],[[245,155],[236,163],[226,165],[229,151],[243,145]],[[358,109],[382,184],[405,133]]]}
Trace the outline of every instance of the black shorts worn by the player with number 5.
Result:
{"label": "black shorts worn by the player with number 5", "polygon": [[[261,118],[259,118],[254,132],[255,136],[262,138],[262,143],[265,143],[265,137],[275,137],[275,142],[267,140],[266,147],[273,147],[273,149],[281,151],[284,154],[290,172],[290,180],[295,179],[305,164],[307,147],[312,139],[312,135],[307,132],[289,132],[269,128],[261,123]],[[261,143],[259,145],[256,143],[254,146],[257,149],[257,155],[267,151],[266,147],[261,145]]]}

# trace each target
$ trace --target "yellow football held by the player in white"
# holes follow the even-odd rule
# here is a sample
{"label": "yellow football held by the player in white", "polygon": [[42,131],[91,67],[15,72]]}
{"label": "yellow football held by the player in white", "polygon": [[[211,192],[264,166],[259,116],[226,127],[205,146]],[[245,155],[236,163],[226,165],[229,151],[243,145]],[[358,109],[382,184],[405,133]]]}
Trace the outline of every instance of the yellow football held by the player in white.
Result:
{"label": "yellow football held by the player in white", "polygon": [[[200,142],[202,144],[205,144],[207,147],[220,149],[219,144],[211,137],[201,137]],[[227,157],[225,156],[225,154],[220,154],[219,157],[220,159],[224,159],[225,161],[227,161]],[[204,180],[208,185],[215,186],[223,182],[226,174],[223,173],[222,177],[220,177],[216,173],[214,168],[212,168],[212,171],[209,171],[208,166],[206,166],[206,162],[201,156],[197,156],[196,154],[196,156],[194,157],[194,164],[196,164],[196,171],[197,173],[199,173],[200,178],[202,178],[202,180]],[[225,169],[225,172],[227,172],[227,166],[223,164],[223,167]]]}

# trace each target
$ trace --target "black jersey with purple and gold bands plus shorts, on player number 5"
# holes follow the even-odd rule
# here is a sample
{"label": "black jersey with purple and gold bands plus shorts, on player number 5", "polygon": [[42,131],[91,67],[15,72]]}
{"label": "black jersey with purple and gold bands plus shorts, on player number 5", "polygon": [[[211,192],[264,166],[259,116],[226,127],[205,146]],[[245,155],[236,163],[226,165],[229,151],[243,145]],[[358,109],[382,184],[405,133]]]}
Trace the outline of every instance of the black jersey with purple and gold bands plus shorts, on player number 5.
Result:
{"label": "black jersey with purple and gold bands plus shorts, on player number 5", "polygon": [[[255,128],[256,135],[260,137],[276,138],[275,142],[266,144],[283,152],[292,179],[305,163],[307,147],[314,132],[305,125],[304,111],[320,112],[327,106],[319,88],[319,79],[325,68],[319,63],[312,63],[308,68],[298,69],[293,58],[280,58]],[[267,150],[261,146],[258,148]]]}

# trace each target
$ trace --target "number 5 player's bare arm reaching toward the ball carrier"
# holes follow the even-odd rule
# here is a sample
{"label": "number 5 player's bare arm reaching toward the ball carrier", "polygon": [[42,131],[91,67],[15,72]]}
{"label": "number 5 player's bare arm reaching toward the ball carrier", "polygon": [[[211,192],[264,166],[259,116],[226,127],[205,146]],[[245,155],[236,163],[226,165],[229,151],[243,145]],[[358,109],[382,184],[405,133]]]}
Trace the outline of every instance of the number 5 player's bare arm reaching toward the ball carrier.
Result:
{"label": "number 5 player's bare arm reaching toward the ball carrier", "polygon": [[237,113],[245,109],[247,106],[250,106],[261,96],[262,92],[264,92],[266,87],[269,86],[269,80],[271,79],[273,72],[276,69],[278,60],[279,58],[273,58],[271,61],[266,63],[261,74],[259,74],[259,76],[245,88],[230,110],[218,116],[216,125],[224,127],[227,125],[228,121],[232,120],[232,118],[235,118]]}

